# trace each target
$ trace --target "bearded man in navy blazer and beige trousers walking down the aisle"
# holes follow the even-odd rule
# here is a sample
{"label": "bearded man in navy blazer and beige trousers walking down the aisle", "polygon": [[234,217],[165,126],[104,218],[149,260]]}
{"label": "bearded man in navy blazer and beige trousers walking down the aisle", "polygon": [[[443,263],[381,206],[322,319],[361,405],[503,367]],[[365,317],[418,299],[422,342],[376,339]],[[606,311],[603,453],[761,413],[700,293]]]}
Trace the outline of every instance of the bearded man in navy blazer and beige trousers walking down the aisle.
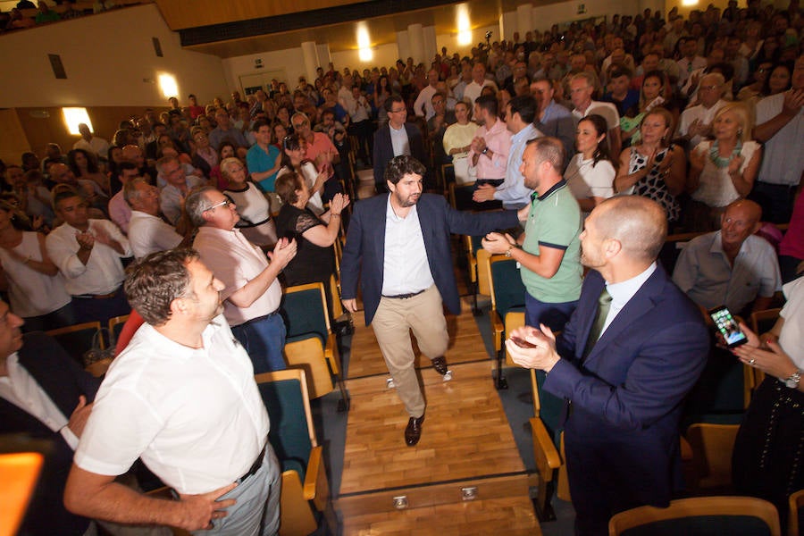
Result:
{"label": "bearded man in navy blazer and beige trousers walking down the aisle", "polygon": [[344,306],[356,312],[357,281],[363,290],[366,325],[372,324],[382,356],[410,415],[405,439],[421,436],[424,399],[415,373],[409,330],[433,367],[446,374],[448,346],[443,303],[461,310],[450,255],[450,233],[473,236],[508,229],[515,211],[469,214],[444,197],[422,194],[424,166],[412,156],[393,158],[385,172],[390,195],[360,201],[349,223],[341,264]]}

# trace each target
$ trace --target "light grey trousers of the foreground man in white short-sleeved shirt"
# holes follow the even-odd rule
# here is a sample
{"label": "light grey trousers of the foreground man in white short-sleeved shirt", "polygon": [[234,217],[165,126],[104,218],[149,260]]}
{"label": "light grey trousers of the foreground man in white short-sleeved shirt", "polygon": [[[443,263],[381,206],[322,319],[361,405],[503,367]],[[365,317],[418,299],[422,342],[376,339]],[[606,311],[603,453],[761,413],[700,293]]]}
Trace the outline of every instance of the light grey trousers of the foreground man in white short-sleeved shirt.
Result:
{"label": "light grey trousers of the foreground man in white short-sleeved shirt", "polygon": [[213,521],[213,528],[193,532],[203,536],[272,536],[279,532],[281,473],[271,443],[265,446],[263,465],[238,487],[218,500],[234,498],[227,515]]}

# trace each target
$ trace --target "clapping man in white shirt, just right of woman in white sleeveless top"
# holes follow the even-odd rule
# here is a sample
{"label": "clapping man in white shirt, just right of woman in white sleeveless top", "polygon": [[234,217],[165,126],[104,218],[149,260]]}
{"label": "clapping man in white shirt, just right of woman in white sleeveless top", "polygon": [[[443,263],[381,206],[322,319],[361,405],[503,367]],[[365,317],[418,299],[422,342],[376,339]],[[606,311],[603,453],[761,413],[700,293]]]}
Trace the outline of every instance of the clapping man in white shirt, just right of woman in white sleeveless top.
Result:
{"label": "clapping man in white shirt, just right of woman in white sleeveless top", "polygon": [[129,240],[113,222],[90,219],[87,202],[70,188],[54,194],[53,206],[63,224],[47,235],[45,247],[64,276],[76,322],[105,323],[129,314],[121,289],[121,258],[131,256]]}

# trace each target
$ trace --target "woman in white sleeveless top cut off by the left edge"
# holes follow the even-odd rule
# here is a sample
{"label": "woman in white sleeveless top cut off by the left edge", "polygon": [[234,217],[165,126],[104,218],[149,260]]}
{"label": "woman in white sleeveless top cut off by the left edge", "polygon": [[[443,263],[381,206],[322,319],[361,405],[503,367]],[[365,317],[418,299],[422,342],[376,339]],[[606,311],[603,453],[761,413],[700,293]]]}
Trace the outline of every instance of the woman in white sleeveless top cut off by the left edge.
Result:
{"label": "woman in white sleeveless top cut off by the left edge", "polygon": [[0,200],[0,289],[8,292],[23,331],[47,331],[75,323],[71,297],[59,269],[47,256],[45,236],[28,218]]}

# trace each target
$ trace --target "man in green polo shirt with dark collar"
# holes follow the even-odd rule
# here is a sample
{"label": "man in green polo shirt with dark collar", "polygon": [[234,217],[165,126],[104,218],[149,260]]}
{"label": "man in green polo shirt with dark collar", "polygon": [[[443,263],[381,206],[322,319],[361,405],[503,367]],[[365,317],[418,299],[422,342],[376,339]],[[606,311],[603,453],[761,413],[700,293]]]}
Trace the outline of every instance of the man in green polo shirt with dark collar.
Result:
{"label": "man in green polo shirt with dark collar", "polygon": [[523,235],[492,232],[483,247],[521,264],[525,324],[559,331],[581,296],[581,209],[561,176],[564,146],[557,138],[535,138],[525,147],[520,172],[534,191]]}

